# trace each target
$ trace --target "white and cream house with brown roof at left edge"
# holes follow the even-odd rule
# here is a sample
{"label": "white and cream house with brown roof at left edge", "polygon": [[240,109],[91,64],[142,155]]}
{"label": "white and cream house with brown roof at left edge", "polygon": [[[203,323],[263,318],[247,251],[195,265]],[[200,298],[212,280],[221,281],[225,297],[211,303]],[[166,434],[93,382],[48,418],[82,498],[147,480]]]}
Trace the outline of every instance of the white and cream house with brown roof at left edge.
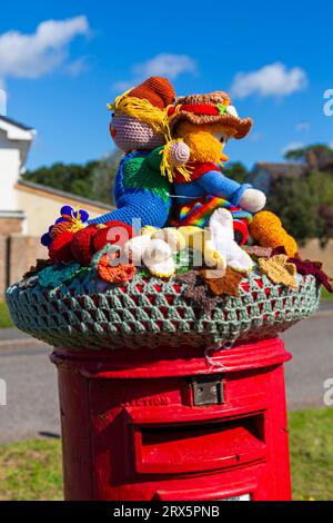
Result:
{"label": "white and cream house with brown roof at left edge", "polygon": [[0,107],[0,302],[4,290],[36,263],[48,256],[40,237],[67,204],[95,217],[110,210],[91,201],[24,179],[26,161],[36,131],[7,116]]}

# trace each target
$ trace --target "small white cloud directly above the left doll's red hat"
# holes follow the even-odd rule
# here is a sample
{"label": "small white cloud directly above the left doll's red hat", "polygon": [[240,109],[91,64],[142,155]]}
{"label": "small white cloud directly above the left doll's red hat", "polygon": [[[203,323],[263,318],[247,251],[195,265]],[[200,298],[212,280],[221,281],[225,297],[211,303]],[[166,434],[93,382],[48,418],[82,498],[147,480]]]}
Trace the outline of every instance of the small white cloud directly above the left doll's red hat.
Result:
{"label": "small white cloud directly above the left doll's red hat", "polygon": [[115,91],[125,91],[149,77],[168,77],[170,80],[175,80],[186,72],[190,75],[198,72],[196,62],[191,57],[164,52],[142,63],[137,63],[131,68],[131,80],[117,81],[112,87]]}

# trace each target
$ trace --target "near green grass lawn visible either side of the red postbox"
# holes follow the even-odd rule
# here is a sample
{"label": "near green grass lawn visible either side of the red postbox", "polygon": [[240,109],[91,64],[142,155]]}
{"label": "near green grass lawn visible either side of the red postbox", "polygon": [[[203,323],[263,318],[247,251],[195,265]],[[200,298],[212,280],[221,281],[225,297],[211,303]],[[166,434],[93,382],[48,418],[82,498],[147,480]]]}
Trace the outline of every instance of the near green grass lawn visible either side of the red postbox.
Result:
{"label": "near green grass lawn visible either side of the red postbox", "polygon": [[[290,414],[294,500],[333,501],[333,408]],[[58,440],[0,446],[0,501],[61,500]]]}

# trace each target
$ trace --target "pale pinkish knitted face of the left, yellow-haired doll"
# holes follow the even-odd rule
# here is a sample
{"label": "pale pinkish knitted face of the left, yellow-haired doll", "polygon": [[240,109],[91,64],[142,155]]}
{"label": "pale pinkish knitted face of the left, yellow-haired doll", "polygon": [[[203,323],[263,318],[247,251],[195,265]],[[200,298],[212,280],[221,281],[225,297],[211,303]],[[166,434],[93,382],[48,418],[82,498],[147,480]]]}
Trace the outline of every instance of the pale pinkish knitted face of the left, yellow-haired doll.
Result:
{"label": "pale pinkish knitted face of the left, yellow-haired doll", "polygon": [[163,135],[154,130],[149,124],[124,112],[112,116],[110,134],[117,147],[124,152],[137,149],[152,150],[165,142]]}

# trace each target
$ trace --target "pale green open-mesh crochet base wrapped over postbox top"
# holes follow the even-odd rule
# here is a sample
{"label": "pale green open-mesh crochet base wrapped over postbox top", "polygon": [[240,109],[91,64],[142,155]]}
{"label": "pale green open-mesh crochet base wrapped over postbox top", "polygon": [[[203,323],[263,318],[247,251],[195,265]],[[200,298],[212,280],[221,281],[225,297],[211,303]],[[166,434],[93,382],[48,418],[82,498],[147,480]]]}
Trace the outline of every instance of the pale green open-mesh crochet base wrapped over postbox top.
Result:
{"label": "pale green open-mesh crochet base wrapped over postbox top", "polygon": [[13,323],[33,337],[77,349],[221,347],[276,336],[309,317],[319,305],[313,276],[297,276],[295,289],[253,273],[239,298],[204,313],[183,296],[186,284],[143,278],[101,289],[88,277],[47,289],[29,280],[11,286],[7,303]]}

